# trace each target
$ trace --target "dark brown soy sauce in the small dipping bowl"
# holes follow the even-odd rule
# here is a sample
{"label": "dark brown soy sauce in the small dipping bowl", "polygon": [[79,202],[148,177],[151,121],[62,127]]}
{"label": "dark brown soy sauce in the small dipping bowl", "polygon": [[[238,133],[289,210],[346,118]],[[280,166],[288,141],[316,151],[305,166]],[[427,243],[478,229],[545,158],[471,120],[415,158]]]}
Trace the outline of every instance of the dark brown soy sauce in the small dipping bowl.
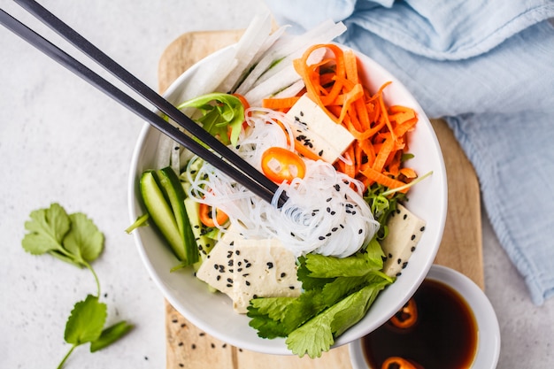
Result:
{"label": "dark brown soy sauce in the small dipping bowl", "polygon": [[449,286],[425,280],[414,296],[418,320],[401,329],[390,321],[362,339],[365,360],[381,369],[387,357],[404,357],[425,369],[466,369],[477,352],[477,322],[466,300]]}

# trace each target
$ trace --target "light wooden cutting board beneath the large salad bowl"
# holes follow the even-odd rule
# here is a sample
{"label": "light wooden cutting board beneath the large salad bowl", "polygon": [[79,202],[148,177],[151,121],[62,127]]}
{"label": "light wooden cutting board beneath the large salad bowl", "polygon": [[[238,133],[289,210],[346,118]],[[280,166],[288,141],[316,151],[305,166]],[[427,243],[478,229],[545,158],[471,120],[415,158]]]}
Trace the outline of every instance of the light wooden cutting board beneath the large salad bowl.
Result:
{"label": "light wooden cutting board beneath the large salad bowl", "polygon": [[[177,38],[164,51],[158,68],[159,90],[167,87],[196,61],[238,41],[242,30],[193,32]],[[449,202],[446,226],[435,263],[466,274],[484,288],[481,250],[481,199],[473,166],[450,128],[432,121],[441,143],[448,176]],[[205,334],[165,302],[167,368],[228,369],[351,369],[348,346],[322,357],[273,356],[237,349]]]}

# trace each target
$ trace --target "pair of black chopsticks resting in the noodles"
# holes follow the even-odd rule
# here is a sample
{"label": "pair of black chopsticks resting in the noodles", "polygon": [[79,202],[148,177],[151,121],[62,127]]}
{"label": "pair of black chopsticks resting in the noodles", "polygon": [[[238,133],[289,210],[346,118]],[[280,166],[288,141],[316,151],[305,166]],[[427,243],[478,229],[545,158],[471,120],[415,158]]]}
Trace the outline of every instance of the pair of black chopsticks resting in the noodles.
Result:
{"label": "pair of black chopsticks resting in the noodles", "polygon": [[[226,173],[266,202],[281,207],[287,201],[285,193],[281,193],[281,196],[276,199],[273,198],[278,189],[278,186],[273,181],[268,180],[263,173],[258,172],[256,168],[238,156],[235,151],[230,150],[226,145],[219,142],[217,138],[206,132],[204,128],[197,125],[196,122],[165,100],[164,97],[158,95],[157,92],[149,88],[133,74],[129,73],[112,58],[104,54],[103,51],[97,49],[96,46],[42,7],[41,4],[36,3],[34,0],[14,1],[26,9],[27,12],[33,14],[36,19],[41,20],[42,23],[57,32],[58,35],[64,37],[75,48],[81,50],[88,58],[94,60],[98,65],[102,65],[105,70],[112,73],[119,81],[125,83],[128,88],[131,88],[149,101],[150,104],[157,107],[159,111],[164,112],[180,127],[184,128],[188,134],[166,122],[157,113],[140,104],[133,97],[128,96],[125,92],[112,85],[111,82],[104,80],[103,77],[90,70],[87,66],[82,65],[64,50],[59,49],[58,46],[0,9],[0,23],[4,27],[19,35],[19,37],[56,60],[59,64],[64,65],[65,68],[77,74],[83,80],[88,81],[88,83],[100,89],[106,95],[111,96],[119,104],[135,112],[135,114],[148,121],[151,126],[156,127],[164,135],[171,137],[175,142],[179,142],[182,146],[194,152],[200,158],[203,158],[219,171]],[[211,150],[207,149],[204,145],[207,145]]]}

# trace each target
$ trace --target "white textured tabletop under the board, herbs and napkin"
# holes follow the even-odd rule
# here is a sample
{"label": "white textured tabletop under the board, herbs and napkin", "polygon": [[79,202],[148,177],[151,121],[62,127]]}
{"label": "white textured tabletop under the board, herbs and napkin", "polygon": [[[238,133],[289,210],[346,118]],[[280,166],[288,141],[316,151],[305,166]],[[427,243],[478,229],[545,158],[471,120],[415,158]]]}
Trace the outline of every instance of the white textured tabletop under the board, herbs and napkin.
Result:
{"label": "white textured tabletop under the board, herbs and napkin", "polygon": [[[158,59],[176,37],[243,28],[265,9],[257,0],[41,4],[152,88],[158,86]],[[17,4],[2,0],[2,8],[36,25]],[[142,122],[4,28],[0,46],[0,368],[56,367],[69,349],[65,319],[76,301],[95,290],[87,271],[21,248],[29,212],[52,202],[87,213],[104,232],[105,250],[94,266],[109,322],[127,319],[136,326],[95,354],[87,347],[75,350],[66,367],[164,368],[164,300],[123,232],[129,224],[129,161]],[[503,340],[498,367],[550,368],[554,300],[531,303],[486,214],[483,219],[486,293]]]}

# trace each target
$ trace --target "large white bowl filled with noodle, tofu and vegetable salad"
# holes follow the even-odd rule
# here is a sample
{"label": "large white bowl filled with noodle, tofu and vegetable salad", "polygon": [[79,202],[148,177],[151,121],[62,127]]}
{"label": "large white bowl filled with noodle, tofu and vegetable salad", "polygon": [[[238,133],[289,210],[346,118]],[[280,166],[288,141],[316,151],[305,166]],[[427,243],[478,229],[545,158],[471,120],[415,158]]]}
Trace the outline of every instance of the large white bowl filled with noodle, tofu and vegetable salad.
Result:
{"label": "large white bowl filled with noodle, tofu and vegetable salad", "polygon": [[165,93],[276,184],[272,201],[150,126],[135,148],[129,232],[144,265],[185,318],[246,350],[319,357],[368,334],[441,242],[433,128],[400,81],[333,42],[342,32],[255,19]]}

